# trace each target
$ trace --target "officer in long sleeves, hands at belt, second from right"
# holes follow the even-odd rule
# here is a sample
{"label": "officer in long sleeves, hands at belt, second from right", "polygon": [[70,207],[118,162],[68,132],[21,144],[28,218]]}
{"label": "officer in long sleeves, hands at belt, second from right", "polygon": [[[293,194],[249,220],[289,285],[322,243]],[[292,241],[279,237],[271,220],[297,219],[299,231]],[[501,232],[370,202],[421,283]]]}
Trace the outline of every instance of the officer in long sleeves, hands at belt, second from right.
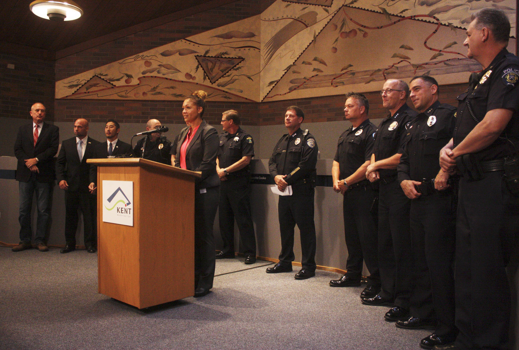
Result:
{"label": "officer in long sleeves, hands at belt, second from right", "polygon": [[[398,165],[398,182],[411,199],[413,289],[409,315],[397,321],[404,329],[435,328],[420,345],[449,344],[454,326],[455,203],[449,174],[436,157],[454,130],[456,108],[438,100],[438,82],[428,75],[409,84],[411,100],[420,112],[408,128],[408,141]],[[438,183],[439,191],[434,189]],[[439,225],[441,223],[441,225]]]}

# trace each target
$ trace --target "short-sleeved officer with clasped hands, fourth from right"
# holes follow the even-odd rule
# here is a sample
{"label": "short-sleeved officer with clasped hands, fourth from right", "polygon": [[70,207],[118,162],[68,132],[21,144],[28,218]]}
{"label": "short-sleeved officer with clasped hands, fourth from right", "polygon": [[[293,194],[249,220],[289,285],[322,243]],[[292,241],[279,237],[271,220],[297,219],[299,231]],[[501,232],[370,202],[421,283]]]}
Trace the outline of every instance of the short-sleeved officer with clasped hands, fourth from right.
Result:
{"label": "short-sleeved officer with clasped hands, fourth from right", "polygon": [[333,160],[333,189],[344,195],[344,236],[348,248],[347,273],[331,280],[332,287],[358,287],[362,262],[370,271],[361,295],[373,297],[380,291],[377,258],[377,216],[373,205],[377,193],[366,179],[366,168],[373,154],[373,135],[377,131],[368,119],[370,102],[362,94],[346,94],[344,116],[352,126],[339,137]]}

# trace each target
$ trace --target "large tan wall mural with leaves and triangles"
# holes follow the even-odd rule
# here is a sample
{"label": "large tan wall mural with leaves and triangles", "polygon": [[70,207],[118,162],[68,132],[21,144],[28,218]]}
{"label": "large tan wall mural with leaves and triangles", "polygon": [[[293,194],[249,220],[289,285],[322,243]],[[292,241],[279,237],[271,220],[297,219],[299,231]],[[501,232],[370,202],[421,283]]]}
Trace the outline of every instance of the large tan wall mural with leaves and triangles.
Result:
{"label": "large tan wall mural with leaves and triangles", "polygon": [[[515,0],[278,0],[263,14],[56,83],[56,98],[259,102],[378,90],[388,78],[440,84],[481,69],[466,57],[470,15]],[[512,36],[509,50],[515,52]]]}

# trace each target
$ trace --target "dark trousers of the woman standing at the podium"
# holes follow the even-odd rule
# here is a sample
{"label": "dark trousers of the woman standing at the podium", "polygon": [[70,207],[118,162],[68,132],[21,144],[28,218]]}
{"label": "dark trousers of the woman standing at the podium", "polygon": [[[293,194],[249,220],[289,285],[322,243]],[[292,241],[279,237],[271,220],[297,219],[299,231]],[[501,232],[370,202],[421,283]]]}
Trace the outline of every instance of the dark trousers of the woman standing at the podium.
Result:
{"label": "dark trousers of the woman standing at the podium", "polygon": [[195,189],[195,289],[213,288],[215,256],[213,224],[218,209],[218,188]]}

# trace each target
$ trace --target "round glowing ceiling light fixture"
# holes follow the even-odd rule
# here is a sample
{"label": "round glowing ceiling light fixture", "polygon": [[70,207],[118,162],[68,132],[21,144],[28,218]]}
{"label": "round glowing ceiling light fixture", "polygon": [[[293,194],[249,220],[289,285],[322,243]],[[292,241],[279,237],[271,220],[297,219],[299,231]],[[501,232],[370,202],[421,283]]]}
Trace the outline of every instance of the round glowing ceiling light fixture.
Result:
{"label": "round glowing ceiling light fixture", "polygon": [[83,10],[71,0],[36,0],[29,8],[38,17],[51,21],[72,21],[83,15]]}

